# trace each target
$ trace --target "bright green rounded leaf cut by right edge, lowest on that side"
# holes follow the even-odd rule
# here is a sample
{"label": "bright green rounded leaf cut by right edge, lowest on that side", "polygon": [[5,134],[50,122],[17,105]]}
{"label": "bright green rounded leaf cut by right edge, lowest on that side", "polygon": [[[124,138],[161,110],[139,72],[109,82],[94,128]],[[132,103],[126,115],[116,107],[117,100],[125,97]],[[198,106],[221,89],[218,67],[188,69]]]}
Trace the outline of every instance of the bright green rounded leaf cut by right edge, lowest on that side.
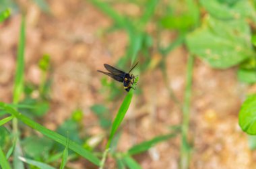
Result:
{"label": "bright green rounded leaf cut by right edge, lowest on that side", "polygon": [[249,96],[239,112],[239,125],[243,131],[256,135],[256,95]]}

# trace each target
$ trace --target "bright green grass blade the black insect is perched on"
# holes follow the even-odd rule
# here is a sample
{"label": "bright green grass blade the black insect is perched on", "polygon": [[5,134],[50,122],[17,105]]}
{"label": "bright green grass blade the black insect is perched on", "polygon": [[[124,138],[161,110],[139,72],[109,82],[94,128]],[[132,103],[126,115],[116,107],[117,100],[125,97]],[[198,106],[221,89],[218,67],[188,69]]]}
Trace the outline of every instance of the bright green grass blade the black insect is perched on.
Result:
{"label": "bright green grass blade the black insect is perched on", "polygon": [[129,93],[127,93],[125,99],[123,100],[123,103],[122,103],[121,107],[119,108],[117,116],[115,117],[115,120],[114,120],[114,122],[112,124],[112,127],[111,127],[108,143],[106,144],[106,149],[108,149],[110,147],[110,143],[111,143],[119,125],[123,121],[123,118],[125,117],[125,113],[127,112],[128,108],[129,108],[129,105],[131,103],[131,98],[132,97],[133,97],[133,90],[131,90],[131,91],[129,91]]}

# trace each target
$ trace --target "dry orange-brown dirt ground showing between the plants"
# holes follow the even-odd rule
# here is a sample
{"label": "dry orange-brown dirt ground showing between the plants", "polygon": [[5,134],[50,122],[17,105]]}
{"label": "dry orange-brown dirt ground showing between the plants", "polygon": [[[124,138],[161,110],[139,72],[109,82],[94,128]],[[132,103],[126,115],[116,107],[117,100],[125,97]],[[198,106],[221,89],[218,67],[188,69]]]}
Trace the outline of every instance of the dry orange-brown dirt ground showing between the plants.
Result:
{"label": "dry orange-brown dirt ground showing between the plants", "polygon": [[[102,74],[96,70],[102,69],[104,63],[115,64],[125,54],[127,36],[122,31],[102,34],[111,20],[86,1],[49,2],[52,15],[42,13],[30,1],[22,2],[27,11],[26,81],[40,82],[37,62],[42,54],[50,54],[52,101],[44,125],[55,129],[79,107],[84,111],[86,131],[92,135],[100,133],[102,129],[95,125],[97,119],[90,110],[90,106],[106,101],[104,93],[98,92]],[[128,14],[139,13],[134,5],[117,5],[116,9]],[[21,15],[13,14],[0,25],[0,100],[7,103],[11,102],[20,21]],[[172,40],[172,34],[163,34]],[[185,48],[180,47],[168,54],[166,61],[168,86],[180,101],[185,91],[187,55]],[[125,117],[127,123],[119,142],[120,151],[167,133],[168,127],[181,123],[182,113],[170,99],[160,70],[149,70],[139,76],[139,88],[143,92],[133,97]],[[189,127],[193,143],[190,168],[255,167],[256,154],[249,150],[247,135],[238,126],[238,111],[245,93],[254,89],[237,81],[235,68],[214,70],[201,60],[195,60]],[[107,105],[116,110],[120,101],[107,102]],[[170,139],[136,159],[142,168],[179,168],[179,146],[180,137]],[[68,166],[86,168],[86,164],[79,160]],[[106,166],[115,168],[111,159]]]}

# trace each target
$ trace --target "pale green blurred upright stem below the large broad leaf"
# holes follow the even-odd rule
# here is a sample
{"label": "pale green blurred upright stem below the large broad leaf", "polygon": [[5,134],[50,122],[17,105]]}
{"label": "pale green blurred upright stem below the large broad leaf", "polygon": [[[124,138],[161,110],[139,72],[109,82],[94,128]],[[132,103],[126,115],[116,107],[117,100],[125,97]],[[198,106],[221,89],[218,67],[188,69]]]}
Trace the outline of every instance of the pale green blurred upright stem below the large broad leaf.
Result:
{"label": "pale green blurred upright stem below the large broad leaf", "polygon": [[186,89],[185,89],[185,100],[183,104],[183,123],[181,126],[181,169],[189,168],[190,158],[190,146],[187,140],[189,131],[189,110],[191,105],[191,87],[193,78],[193,64],[194,57],[189,55],[187,62],[187,76],[186,76]]}

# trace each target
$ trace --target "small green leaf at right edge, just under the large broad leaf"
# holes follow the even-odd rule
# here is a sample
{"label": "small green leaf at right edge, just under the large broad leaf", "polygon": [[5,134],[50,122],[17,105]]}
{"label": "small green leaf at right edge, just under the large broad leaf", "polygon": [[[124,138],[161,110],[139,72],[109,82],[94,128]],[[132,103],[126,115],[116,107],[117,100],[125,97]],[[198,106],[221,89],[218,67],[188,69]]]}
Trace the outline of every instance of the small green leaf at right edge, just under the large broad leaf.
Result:
{"label": "small green leaf at right edge, just under the large broad leaf", "polygon": [[246,82],[249,84],[253,84],[256,82],[256,69],[243,69],[240,68],[237,72],[238,79],[241,82]]}

